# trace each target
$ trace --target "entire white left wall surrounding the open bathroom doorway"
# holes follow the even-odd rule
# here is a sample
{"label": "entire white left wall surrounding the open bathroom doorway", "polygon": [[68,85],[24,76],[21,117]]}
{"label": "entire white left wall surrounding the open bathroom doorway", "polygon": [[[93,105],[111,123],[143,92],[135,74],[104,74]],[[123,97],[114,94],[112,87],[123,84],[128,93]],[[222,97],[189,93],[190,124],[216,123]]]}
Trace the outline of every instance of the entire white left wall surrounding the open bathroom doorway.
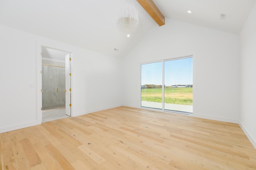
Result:
{"label": "entire white left wall surrounding the open bathroom doorway", "polygon": [[73,116],[122,105],[120,59],[0,25],[0,133],[38,123],[38,43],[73,53]]}

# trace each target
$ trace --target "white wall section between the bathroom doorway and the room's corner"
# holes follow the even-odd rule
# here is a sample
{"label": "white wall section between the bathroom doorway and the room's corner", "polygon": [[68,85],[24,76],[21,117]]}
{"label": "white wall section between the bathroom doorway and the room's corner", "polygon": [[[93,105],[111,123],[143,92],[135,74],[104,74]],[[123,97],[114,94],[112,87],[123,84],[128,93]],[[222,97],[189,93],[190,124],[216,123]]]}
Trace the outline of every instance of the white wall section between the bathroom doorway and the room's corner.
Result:
{"label": "white wall section between the bathroom doorway and the room's corner", "polygon": [[77,52],[73,57],[73,116],[122,106],[122,60],[84,49]]}

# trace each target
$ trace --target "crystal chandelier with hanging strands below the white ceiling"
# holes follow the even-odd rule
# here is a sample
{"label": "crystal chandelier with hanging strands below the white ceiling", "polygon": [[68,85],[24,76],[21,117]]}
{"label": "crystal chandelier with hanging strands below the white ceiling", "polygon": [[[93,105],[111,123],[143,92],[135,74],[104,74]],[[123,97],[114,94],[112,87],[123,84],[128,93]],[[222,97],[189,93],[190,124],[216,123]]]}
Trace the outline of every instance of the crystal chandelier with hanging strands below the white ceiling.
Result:
{"label": "crystal chandelier with hanging strands below the white ceiling", "polygon": [[138,27],[139,16],[138,10],[134,5],[126,1],[126,5],[122,7],[117,13],[116,27],[119,31],[130,33]]}

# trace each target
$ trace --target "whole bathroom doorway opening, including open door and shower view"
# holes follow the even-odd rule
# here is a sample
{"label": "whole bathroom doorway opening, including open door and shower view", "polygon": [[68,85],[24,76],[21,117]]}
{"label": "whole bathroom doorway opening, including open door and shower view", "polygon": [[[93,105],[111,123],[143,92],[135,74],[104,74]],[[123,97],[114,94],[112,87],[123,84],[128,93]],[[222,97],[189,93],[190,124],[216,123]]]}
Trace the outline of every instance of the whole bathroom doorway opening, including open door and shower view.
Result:
{"label": "whole bathroom doorway opening, including open door and shower view", "polygon": [[71,54],[41,47],[42,122],[71,115]]}

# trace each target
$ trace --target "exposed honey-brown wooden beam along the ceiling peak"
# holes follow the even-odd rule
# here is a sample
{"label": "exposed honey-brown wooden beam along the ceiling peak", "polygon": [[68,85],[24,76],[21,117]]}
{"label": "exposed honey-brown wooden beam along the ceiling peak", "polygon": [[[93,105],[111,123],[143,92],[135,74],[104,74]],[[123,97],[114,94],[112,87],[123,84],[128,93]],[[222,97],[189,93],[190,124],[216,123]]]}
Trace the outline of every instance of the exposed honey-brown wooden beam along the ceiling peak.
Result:
{"label": "exposed honey-brown wooden beam along the ceiling peak", "polygon": [[157,8],[153,0],[137,0],[139,4],[148,12],[148,14],[156,21],[159,26],[164,25],[164,16]]}

